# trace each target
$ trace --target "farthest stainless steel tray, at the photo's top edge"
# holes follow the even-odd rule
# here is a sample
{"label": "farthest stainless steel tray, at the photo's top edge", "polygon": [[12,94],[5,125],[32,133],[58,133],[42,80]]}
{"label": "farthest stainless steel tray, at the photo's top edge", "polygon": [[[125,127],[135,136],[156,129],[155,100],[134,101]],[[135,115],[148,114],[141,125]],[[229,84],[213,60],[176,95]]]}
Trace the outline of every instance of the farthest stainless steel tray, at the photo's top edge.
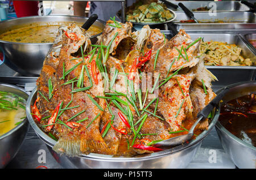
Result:
{"label": "farthest stainless steel tray, at the photo's top edge", "polygon": [[[170,1],[170,0],[167,0]],[[170,1],[171,3],[174,3],[175,5],[178,5],[179,2]],[[212,8],[214,3],[216,5],[216,11],[222,12],[222,11],[249,11],[250,8],[246,5],[243,5],[239,1],[182,1],[183,5],[186,6],[189,10],[193,10],[199,7],[208,7]],[[171,6],[166,5],[168,8],[174,11],[183,11],[180,8],[173,8]],[[193,12],[193,11],[192,11]],[[195,12],[195,11],[194,11]],[[197,11],[197,12],[206,12],[206,11]]]}

